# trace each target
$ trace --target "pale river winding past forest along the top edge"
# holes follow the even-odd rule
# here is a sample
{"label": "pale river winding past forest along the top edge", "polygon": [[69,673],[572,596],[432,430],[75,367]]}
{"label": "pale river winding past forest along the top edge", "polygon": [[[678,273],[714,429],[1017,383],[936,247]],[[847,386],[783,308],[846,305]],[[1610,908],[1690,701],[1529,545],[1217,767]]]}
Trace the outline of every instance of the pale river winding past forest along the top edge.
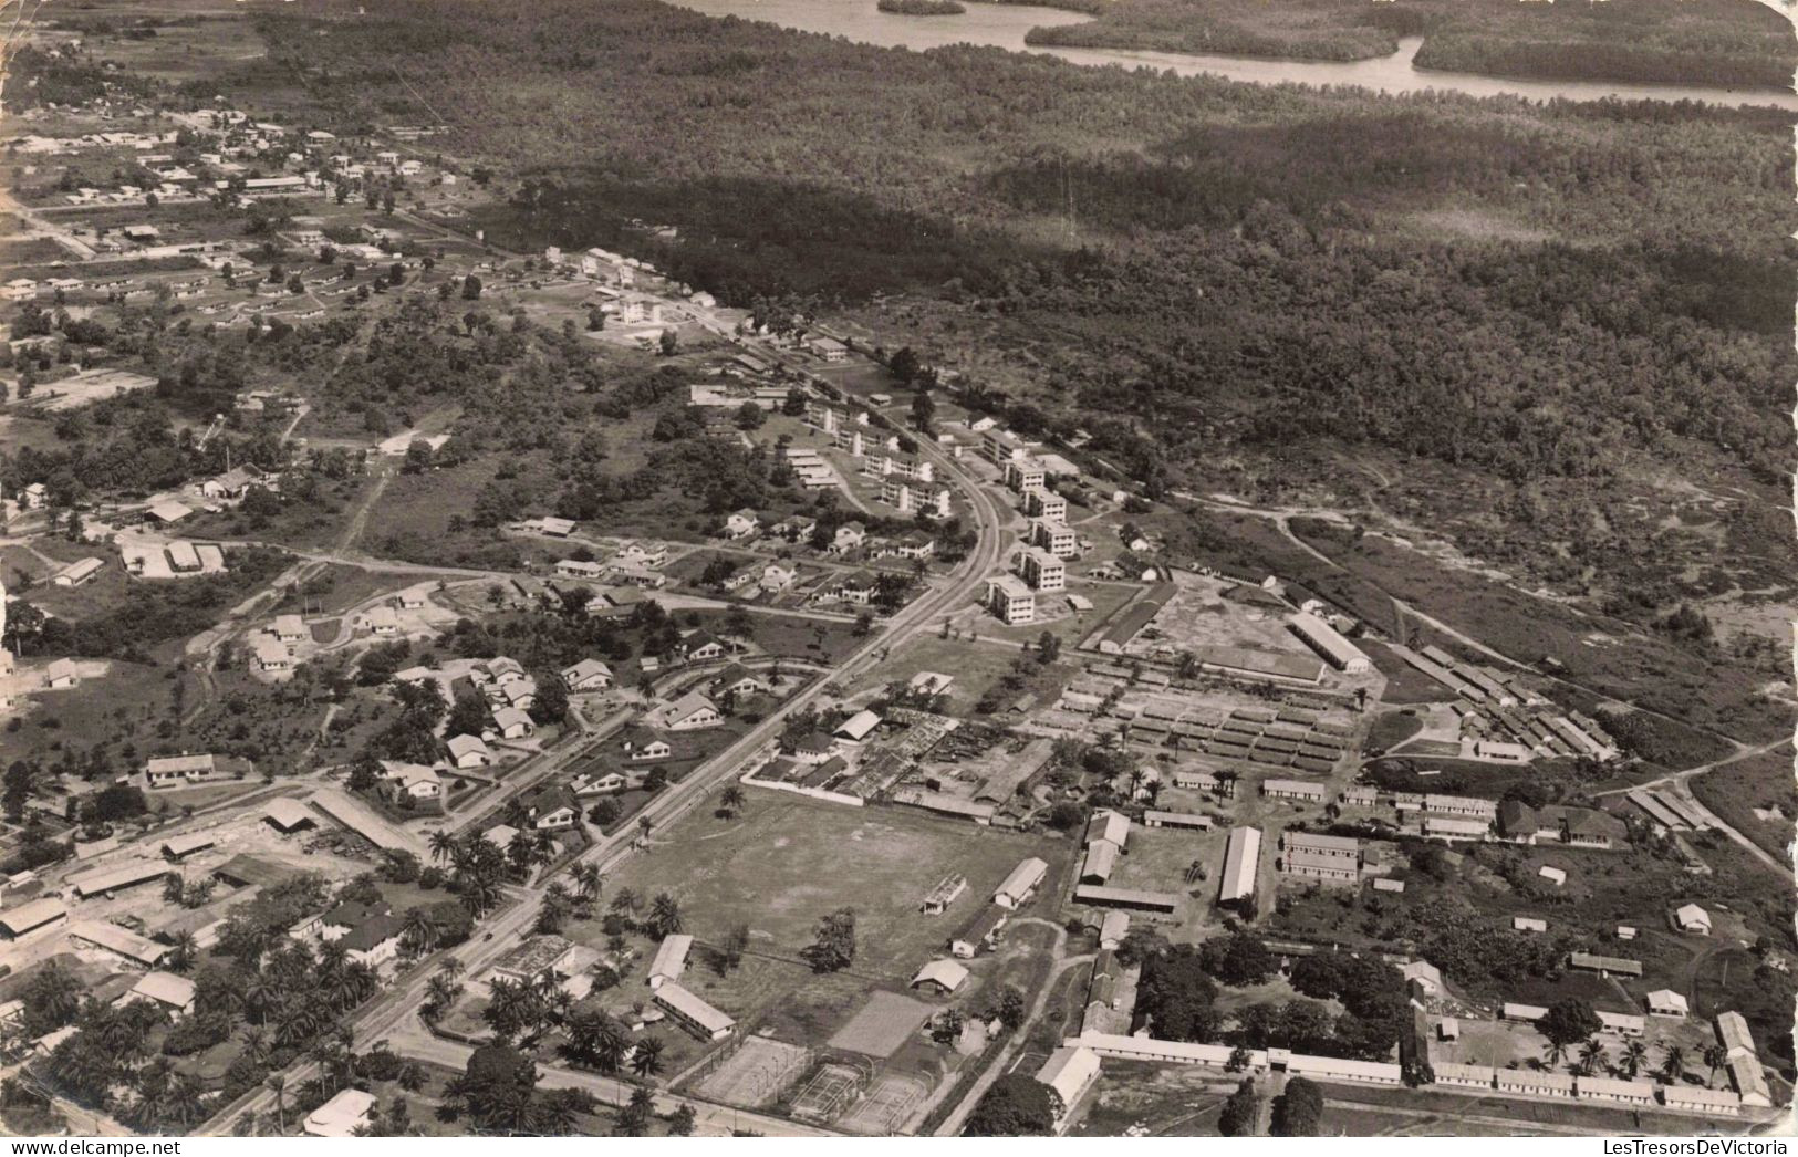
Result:
{"label": "pale river winding past forest along the top edge", "polygon": [[1043,25],[1084,23],[1088,16],[1028,4],[967,4],[960,16],[897,16],[881,13],[874,0],[671,0],[707,16],[764,20],[784,29],[841,36],[883,49],[942,49],[989,45],[1012,52],[1046,52],[1075,65],[1124,65],[1170,68],[1181,75],[1221,75],[1255,84],[1357,84],[1374,92],[1464,92],[1474,97],[1510,93],[1532,101],[1604,97],[1652,101],[1703,101],[1706,104],[1773,104],[1798,111],[1798,93],[1776,88],[1730,90],[1688,84],[1609,84],[1598,81],[1514,81],[1467,72],[1417,68],[1420,36],[1399,41],[1399,50],[1366,61],[1287,61],[1242,56],[1194,56],[1187,52],[1131,52],[1126,49],[1030,47],[1025,32]]}

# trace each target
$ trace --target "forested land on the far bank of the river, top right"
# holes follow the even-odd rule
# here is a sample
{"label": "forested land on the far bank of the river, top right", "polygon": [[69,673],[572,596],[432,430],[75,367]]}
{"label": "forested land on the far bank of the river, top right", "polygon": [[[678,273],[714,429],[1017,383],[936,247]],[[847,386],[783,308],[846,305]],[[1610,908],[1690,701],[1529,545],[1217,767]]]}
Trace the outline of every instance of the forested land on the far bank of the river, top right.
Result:
{"label": "forested land on the far bank of the river, top right", "polygon": [[1550,81],[1787,88],[1791,25],[1753,0],[1050,0],[1095,16],[1028,43],[1293,59],[1390,56],[1422,36],[1419,68]]}

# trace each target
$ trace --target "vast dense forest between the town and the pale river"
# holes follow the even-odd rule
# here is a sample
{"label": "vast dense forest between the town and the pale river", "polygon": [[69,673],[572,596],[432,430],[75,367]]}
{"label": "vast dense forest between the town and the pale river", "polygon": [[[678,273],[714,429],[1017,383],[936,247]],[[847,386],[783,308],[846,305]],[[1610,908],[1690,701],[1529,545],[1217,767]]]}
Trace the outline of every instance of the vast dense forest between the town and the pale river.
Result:
{"label": "vast dense forest between the town and the pale river", "polygon": [[[1331,438],[1528,481],[1699,442],[1784,471],[1782,113],[877,50],[647,0],[263,20],[347,119],[394,99],[360,66],[379,50],[458,147],[527,171],[489,235],[642,219],[678,243],[635,248],[726,300],[944,300],[1055,367],[1052,424],[1153,415],[1174,460]],[[1444,210],[1492,228],[1410,228]]]}

